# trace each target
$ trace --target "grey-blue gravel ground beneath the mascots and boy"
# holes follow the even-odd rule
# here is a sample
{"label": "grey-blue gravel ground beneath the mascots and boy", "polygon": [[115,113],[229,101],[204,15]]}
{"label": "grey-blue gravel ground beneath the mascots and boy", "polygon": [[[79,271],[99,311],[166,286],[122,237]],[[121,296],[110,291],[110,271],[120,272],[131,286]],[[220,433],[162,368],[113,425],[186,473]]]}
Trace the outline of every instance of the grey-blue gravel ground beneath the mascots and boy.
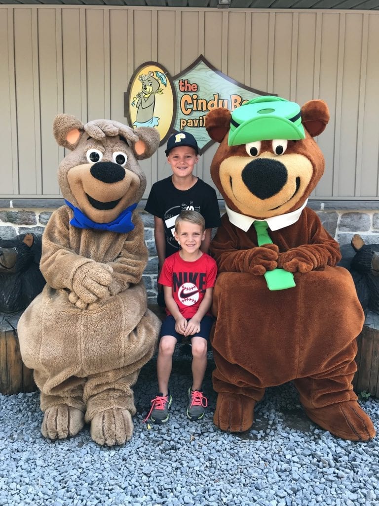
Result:
{"label": "grey-blue gravel ground beneath the mascots and boy", "polygon": [[[252,430],[223,433],[212,423],[211,353],[210,407],[201,422],[190,421],[185,351],[174,357],[169,422],[141,423],[156,392],[154,357],[134,388],[133,438],[121,447],[93,443],[87,426],[72,439],[45,440],[38,393],[0,396],[0,505],[379,505],[378,436],[353,443],[318,429],[292,384],[267,390]],[[362,406],[379,431],[379,400]]]}

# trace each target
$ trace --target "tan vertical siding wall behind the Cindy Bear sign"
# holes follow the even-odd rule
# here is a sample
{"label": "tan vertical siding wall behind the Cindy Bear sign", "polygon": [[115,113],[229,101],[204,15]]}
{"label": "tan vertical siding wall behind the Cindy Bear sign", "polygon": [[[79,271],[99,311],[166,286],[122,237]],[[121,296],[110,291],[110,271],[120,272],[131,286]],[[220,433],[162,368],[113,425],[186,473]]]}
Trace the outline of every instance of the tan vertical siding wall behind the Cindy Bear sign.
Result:
{"label": "tan vertical siding wall behind the Cindy Bear sign", "polygon": [[[123,92],[137,66],[157,61],[175,75],[204,54],[252,88],[300,104],[324,99],[326,172],[313,197],[377,199],[378,46],[377,12],[1,6],[0,198],[59,196],[57,113],[126,121]],[[207,182],[215,149],[197,168]],[[164,147],[143,167],[146,197],[170,174]]]}

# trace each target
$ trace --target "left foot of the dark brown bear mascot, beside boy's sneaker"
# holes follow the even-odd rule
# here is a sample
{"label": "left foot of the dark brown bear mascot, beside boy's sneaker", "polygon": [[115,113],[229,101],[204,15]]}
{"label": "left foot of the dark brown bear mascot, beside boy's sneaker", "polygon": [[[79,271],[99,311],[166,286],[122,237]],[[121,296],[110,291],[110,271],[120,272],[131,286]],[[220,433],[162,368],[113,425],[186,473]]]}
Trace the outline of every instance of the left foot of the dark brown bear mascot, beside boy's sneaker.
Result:
{"label": "left foot of the dark brown bear mascot, beside boy's sneaker", "polygon": [[253,425],[256,401],[239,394],[220,392],[213,422],[222,431],[245,432]]}

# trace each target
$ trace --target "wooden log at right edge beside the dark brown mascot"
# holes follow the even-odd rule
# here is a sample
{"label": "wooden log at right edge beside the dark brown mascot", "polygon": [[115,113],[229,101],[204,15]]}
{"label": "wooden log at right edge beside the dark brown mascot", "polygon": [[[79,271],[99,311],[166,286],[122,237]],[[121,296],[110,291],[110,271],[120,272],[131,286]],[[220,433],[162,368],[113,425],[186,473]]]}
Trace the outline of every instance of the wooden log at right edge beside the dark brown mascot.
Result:
{"label": "wooden log at right edge beside the dark brown mascot", "polygon": [[355,361],[358,370],[353,386],[357,394],[370,393],[379,397],[379,315],[368,311],[362,332],[357,338],[358,353]]}

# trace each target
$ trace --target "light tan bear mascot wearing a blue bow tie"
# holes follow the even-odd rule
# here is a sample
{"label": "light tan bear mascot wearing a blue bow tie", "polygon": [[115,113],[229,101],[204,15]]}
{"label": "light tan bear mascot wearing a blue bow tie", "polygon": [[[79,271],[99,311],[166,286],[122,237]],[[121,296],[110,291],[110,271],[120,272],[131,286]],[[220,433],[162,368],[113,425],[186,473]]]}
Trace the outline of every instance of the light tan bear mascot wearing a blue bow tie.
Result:
{"label": "light tan bear mascot wearing a blue bow tie", "polygon": [[67,205],[42,237],[47,284],[20,318],[22,359],[41,391],[43,436],[73,436],[86,421],[97,443],[123,444],[136,411],[131,387],[160,327],[141,280],[148,251],[135,211],[146,187],[137,160],[156,151],[159,134],[60,114],[54,135],[71,150],[58,171]]}

